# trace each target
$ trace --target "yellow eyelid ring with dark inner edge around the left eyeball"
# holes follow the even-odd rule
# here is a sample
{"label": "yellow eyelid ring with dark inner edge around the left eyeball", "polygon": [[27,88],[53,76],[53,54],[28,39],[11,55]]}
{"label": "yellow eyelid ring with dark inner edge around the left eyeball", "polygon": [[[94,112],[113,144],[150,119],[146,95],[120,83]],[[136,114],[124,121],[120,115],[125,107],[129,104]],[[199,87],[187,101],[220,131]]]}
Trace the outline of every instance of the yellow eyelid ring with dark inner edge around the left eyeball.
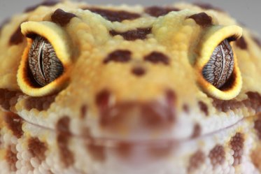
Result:
{"label": "yellow eyelid ring with dark inner edge around the left eyeball", "polygon": [[[27,36],[27,48],[24,49],[17,72],[17,83],[20,89],[29,96],[45,96],[59,92],[68,84],[71,69],[71,41],[66,31],[52,22],[24,22],[21,29],[22,34]],[[34,72],[29,66],[30,50],[37,37],[45,39],[48,46],[53,48],[57,57],[55,60],[63,67],[63,71],[55,78],[43,84],[36,82]]]}

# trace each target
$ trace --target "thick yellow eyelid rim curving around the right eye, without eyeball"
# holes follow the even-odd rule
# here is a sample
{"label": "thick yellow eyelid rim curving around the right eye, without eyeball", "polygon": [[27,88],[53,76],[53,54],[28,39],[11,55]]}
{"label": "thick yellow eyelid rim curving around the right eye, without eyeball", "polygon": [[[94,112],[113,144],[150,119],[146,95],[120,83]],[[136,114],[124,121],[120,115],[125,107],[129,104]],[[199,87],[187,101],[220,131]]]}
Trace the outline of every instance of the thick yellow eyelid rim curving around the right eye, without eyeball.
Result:
{"label": "thick yellow eyelid rim curving around the right eye, without eyeball", "polygon": [[[216,99],[230,100],[236,97],[241,91],[242,79],[239,67],[237,65],[237,55],[234,53],[234,82],[230,89],[220,90],[211,85],[202,75],[202,69],[208,63],[213,50],[227,38],[240,38],[242,36],[242,29],[236,25],[232,26],[214,26],[211,27],[202,39],[202,45],[199,51],[199,57],[195,62],[195,69],[198,73],[198,82],[202,89],[209,95]],[[233,49],[233,48],[232,48]],[[234,51],[233,51],[234,52]]]}

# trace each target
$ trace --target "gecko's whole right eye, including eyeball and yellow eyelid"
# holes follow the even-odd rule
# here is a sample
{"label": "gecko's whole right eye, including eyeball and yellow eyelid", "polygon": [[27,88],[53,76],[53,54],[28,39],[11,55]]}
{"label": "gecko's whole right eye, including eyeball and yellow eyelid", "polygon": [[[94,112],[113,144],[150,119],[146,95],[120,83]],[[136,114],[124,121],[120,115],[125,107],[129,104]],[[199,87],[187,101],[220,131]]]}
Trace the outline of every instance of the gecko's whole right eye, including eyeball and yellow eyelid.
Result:
{"label": "gecko's whole right eye, including eyeball and yellow eyelid", "polygon": [[216,99],[234,99],[242,87],[233,42],[242,36],[236,25],[213,26],[206,29],[197,49],[195,69],[201,89]]}

